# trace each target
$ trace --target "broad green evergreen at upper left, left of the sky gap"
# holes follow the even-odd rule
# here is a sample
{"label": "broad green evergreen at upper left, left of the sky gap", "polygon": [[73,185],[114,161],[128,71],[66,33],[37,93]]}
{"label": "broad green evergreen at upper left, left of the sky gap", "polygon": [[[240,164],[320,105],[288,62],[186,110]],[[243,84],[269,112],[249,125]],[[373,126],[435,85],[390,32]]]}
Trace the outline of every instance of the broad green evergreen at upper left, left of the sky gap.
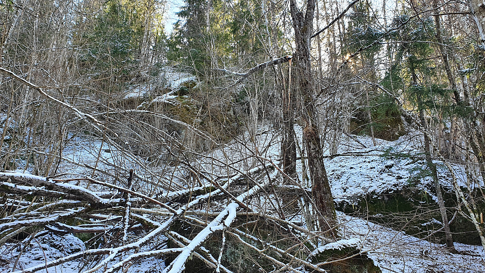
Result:
{"label": "broad green evergreen at upper left, left of the sky gap", "polygon": [[78,18],[74,33],[75,43],[82,48],[82,67],[100,78],[131,80],[131,72],[139,71],[135,68],[146,62],[146,49],[153,46],[147,22],[155,17],[154,7],[143,1],[109,0],[92,12],[93,17]]}

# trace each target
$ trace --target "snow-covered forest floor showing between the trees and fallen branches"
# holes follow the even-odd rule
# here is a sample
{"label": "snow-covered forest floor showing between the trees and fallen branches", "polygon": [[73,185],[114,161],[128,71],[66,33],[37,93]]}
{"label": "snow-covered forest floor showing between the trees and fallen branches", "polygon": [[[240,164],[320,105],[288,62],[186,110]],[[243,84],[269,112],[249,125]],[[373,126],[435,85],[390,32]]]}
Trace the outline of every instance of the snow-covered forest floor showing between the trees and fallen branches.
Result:
{"label": "snow-covered forest floor showing between the trees and fallen branches", "polygon": [[[295,129],[297,136],[301,138],[301,128],[295,127]],[[255,162],[239,161],[239,159],[251,155],[255,150],[260,151],[261,157],[268,161],[277,160],[279,157],[277,134],[269,126],[258,127],[256,134],[258,137],[254,138],[246,132],[234,141],[206,153],[205,157],[198,159],[198,166],[201,168],[210,166],[213,172],[227,173],[230,171],[225,171],[223,167],[220,167],[219,170],[214,169],[213,162],[214,158],[225,161],[230,158],[234,162],[231,165],[234,168],[249,169],[255,165]],[[366,194],[377,195],[389,190],[399,190],[405,187],[408,178],[414,175],[412,170],[422,168],[423,162],[399,156],[400,153],[419,154],[420,138],[416,135],[402,136],[396,141],[377,139],[376,146],[372,145],[372,140],[368,136],[351,137],[342,138],[338,154],[334,154],[334,156],[326,154],[325,164],[333,197],[337,204],[345,202],[358,205],[359,199]],[[91,175],[92,170],[83,167],[83,164],[92,165],[96,161],[101,170],[112,168],[112,166],[122,166],[123,170],[129,168],[137,170],[136,163],[125,161],[106,143],[86,138],[78,138],[73,143],[64,150],[63,157],[66,160],[59,166],[59,172]],[[139,160],[144,159],[139,158]],[[174,167],[162,166],[159,168],[166,168],[167,179],[182,179],[186,175],[178,172]],[[456,168],[459,170],[459,166]],[[302,169],[301,161],[299,161],[298,170],[300,180],[303,181],[302,186],[309,188],[309,182],[305,182],[306,180],[302,177]],[[118,171],[123,172],[123,170]],[[440,178],[443,183],[449,183],[447,178],[450,175],[443,169],[440,170]],[[460,174],[459,171],[458,174]],[[139,175],[148,177],[150,174],[140,171]],[[458,177],[460,178],[460,175]],[[98,179],[102,179],[102,177],[98,177]],[[425,190],[429,188],[429,178],[422,178],[419,181],[415,187],[422,187]],[[140,184],[139,187],[145,186]],[[201,212],[203,211],[205,208],[201,208]],[[304,225],[302,218],[301,215],[295,215],[292,221]],[[403,230],[393,230],[365,218],[339,212],[338,220],[342,239],[353,239],[359,242],[358,247],[362,253],[366,253],[381,268],[382,272],[485,272],[485,252],[482,246],[456,243],[455,247],[459,254],[451,254],[444,249],[444,245],[418,239],[407,235]],[[437,220],[430,219],[430,221]],[[8,242],[1,246],[1,272],[9,272],[9,268],[12,268],[14,262],[17,263],[17,270],[22,270],[85,250],[83,241],[70,234],[64,236],[38,234],[35,239],[27,241],[29,238],[25,239],[24,244]],[[144,246],[144,249],[150,250],[159,247],[159,243],[164,239],[166,238],[162,236]],[[18,261],[16,261],[17,259]],[[71,261],[62,267],[58,266],[55,270],[51,268],[49,271],[80,272],[87,270],[87,268],[83,268],[84,266],[82,262]],[[144,272],[147,269],[162,270],[164,266],[163,259],[149,257],[136,262],[129,272]],[[300,270],[305,271],[303,268]]]}

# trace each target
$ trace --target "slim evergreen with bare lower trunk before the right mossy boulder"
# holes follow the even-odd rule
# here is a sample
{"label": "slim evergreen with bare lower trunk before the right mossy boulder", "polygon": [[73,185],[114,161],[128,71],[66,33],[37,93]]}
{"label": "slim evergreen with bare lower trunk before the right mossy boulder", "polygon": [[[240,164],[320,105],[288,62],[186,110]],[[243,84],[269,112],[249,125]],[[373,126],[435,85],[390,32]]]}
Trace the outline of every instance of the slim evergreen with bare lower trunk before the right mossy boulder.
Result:
{"label": "slim evergreen with bare lower trunk before the right mossy boulder", "polygon": [[[396,18],[395,24],[402,24],[403,19],[409,20],[408,24],[400,30],[400,33],[392,35],[390,39],[398,44],[398,51],[400,51],[398,55],[402,57],[402,60],[396,61],[398,64],[401,63],[400,73],[404,80],[404,90],[409,101],[416,107],[418,119],[425,131],[424,154],[436,190],[447,247],[450,251],[455,252],[438,172],[432,159],[431,141],[433,140],[426,132],[430,127],[426,120],[426,113],[434,111],[438,111],[440,114],[449,113],[446,108],[452,92],[444,86],[436,84],[441,82],[441,78],[433,63],[434,58],[430,58],[435,54],[434,48],[431,46],[435,37],[433,20],[430,17],[420,20],[410,19],[404,13],[403,16]],[[395,72],[393,71],[393,73]],[[439,153],[439,151],[435,152]]]}

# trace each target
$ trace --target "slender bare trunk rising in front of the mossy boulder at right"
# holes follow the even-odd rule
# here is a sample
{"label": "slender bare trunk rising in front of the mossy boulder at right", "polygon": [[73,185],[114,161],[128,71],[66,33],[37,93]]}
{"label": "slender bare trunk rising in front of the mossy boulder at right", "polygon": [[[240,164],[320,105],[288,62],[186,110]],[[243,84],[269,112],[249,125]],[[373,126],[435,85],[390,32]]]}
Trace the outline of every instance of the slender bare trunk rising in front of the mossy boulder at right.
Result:
{"label": "slender bare trunk rising in front of the mossy boulder at right", "polygon": [[[416,76],[416,71],[415,71],[413,61],[410,61],[410,66],[411,66],[411,75],[413,77],[413,85],[416,86],[417,76]],[[420,93],[416,94],[416,101],[419,108],[419,121],[421,122],[421,125],[424,128],[427,128],[426,119],[424,118],[423,101],[421,99]],[[431,145],[430,145],[430,139],[428,138],[427,134],[424,134],[424,154],[426,157],[426,162],[428,163],[428,166],[431,169],[431,176],[433,177],[433,183],[436,189],[439,211],[441,213],[441,220],[443,221],[443,228],[446,236],[446,246],[450,250],[450,252],[456,252],[453,244],[453,238],[451,237],[450,224],[448,222],[448,216],[446,214],[446,207],[445,207],[445,202],[443,200],[443,194],[441,192],[441,185],[439,184],[439,180],[438,180],[438,172],[436,170],[436,165],[434,165],[433,159],[431,158]]]}

